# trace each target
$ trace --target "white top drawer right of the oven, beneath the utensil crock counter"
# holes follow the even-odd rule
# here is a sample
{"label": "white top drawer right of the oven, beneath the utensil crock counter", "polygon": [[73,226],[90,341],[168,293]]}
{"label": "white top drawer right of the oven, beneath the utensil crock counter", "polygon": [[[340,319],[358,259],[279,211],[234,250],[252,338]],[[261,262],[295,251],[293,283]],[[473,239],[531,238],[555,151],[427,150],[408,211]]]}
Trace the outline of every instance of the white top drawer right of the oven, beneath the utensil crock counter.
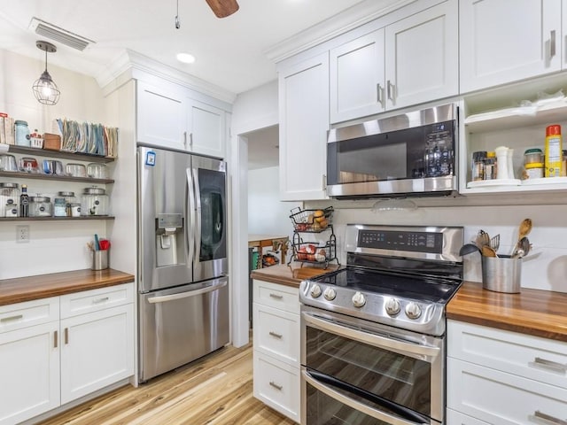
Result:
{"label": "white top drawer right of the oven, beneath the utensil crock counter", "polygon": [[567,389],[567,343],[448,321],[447,355]]}

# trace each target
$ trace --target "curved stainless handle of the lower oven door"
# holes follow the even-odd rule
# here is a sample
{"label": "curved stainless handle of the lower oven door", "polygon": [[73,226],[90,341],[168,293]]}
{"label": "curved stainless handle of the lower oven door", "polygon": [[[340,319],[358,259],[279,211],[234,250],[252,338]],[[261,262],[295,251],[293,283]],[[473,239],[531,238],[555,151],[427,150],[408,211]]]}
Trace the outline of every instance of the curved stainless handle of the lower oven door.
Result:
{"label": "curved stainless handle of the lower oven door", "polygon": [[[408,416],[408,418],[411,418],[412,419],[411,421],[409,421],[409,420],[407,421],[407,420],[400,418],[398,416],[393,416],[392,414],[389,414],[389,413],[381,412],[381,411],[375,409],[374,407],[370,407],[370,406],[367,406],[365,404],[362,404],[359,401],[353,400],[353,398],[348,398],[345,395],[338,392],[337,390],[333,390],[329,386],[327,386],[323,383],[320,383],[311,374],[317,375],[317,378],[324,379],[325,381],[327,381],[327,380],[334,381],[329,376],[317,374],[315,371],[307,372],[306,370],[302,370],[301,374],[303,375],[303,378],[306,380],[306,382],[309,383],[309,385],[312,385],[313,387],[315,387],[316,390],[321,391],[323,394],[326,394],[330,398],[334,398],[335,400],[338,400],[338,402],[342,403],[343,405],[352,407],[354,410],[358,410],[359,412],[367,414],[367,415],[369,415],[369,416],[371,416],[371,417],[373,417],[373,418],[375,418],[379,421],[385,421],[385,422],[390,423],[392,425],[429,425],[431,423],[431,421],[426,420],[422,415],[417,414],[415,412],[412,412],[412,411],[410,411],[409,409],[407,409],[406,407],[403,407],[403,406],[397,406],[396,405],[396,410],[399,410],[400,413],[403,413],[403,414],[405,414],[405,416]],[[330,383],[330,384],[333,384],[333,383]],[[375,403],[376,402],[377,402],[377,400],[375,401]],[[392,406],[386,406],[386,407],[392,408]],[[414,421],[414,420],[416,420],[416,421]]]}

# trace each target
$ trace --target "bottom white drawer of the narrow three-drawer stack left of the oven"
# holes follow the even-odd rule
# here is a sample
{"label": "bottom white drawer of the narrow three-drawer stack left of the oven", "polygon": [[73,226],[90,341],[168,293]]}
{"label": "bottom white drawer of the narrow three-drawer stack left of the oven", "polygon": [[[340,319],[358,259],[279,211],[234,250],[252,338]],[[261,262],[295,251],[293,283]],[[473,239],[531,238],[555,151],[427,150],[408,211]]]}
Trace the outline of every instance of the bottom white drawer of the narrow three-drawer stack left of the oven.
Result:
{"label": "bottom white drawer of the narrow three-drawer stack left of the oven", "polygon": [[254,397],[299,423],[299,367],[254,351]]}

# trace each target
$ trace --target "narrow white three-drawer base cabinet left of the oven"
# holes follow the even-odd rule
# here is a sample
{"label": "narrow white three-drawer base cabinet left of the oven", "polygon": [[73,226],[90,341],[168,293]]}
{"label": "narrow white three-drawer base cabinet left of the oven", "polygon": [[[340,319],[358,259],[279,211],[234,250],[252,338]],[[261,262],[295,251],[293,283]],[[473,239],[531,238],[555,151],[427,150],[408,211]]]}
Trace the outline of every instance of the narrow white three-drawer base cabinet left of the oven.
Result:
{"label": "narrow white three-drawer base cabinet left of the oven", "polygon": [[299,290],[253,281],[254,397],[299,423]]}

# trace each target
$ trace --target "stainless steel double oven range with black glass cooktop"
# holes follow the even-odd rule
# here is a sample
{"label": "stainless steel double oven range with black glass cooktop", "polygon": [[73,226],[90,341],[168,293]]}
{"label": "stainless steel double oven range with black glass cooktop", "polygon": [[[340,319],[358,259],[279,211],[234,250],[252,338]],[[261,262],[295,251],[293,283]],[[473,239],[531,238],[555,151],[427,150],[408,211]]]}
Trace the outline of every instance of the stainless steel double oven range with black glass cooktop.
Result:
{"label": "stainless steel double oven range with black glass cooktop", "polygon": [[346,267],[301,282],[301,423],[445,423],[457,227],[346,227]]}

